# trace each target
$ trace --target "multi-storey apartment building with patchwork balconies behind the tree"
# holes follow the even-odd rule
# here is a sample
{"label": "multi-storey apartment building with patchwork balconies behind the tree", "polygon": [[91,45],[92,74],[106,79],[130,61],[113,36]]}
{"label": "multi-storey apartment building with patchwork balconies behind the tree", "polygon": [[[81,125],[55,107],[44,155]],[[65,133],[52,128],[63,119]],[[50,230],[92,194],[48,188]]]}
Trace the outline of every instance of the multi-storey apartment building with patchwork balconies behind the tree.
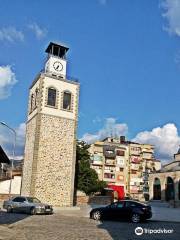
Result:
{"label": "multi-storey apartment building with patchwork balconies behind the tree", "polygon": [[154,147],[119,139],[106,138],[93,143],[91,167],[100,180],[118,192],[119,198],[131,196],[144,200],[149,194],[149,173],[159,170],[161,163],[154,158]]}

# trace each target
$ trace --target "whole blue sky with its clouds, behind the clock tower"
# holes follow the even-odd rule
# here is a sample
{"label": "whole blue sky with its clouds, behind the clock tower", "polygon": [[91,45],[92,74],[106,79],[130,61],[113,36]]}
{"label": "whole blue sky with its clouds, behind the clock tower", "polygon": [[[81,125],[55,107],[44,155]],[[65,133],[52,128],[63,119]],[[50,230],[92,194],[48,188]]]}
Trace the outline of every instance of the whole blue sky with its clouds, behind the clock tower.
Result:
{"label": "whole blue sky with its clouds, behind the clock tower", "polygon": [[[28,88],[50,41],[81,84],[78,137],[125,134],[169,159],[180,144],[180,0],[0,1],[0,120],[23,152]],[[10,151],[9,133],[0,142]]]}

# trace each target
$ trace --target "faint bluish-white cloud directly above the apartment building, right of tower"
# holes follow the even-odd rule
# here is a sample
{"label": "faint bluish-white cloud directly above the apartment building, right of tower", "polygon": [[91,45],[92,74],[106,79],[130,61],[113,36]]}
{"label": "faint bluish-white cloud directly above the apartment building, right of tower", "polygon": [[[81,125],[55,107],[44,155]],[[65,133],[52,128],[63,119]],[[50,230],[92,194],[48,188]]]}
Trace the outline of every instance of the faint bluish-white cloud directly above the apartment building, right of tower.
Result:
{"label": "faint bluish-white cloud directly above the apartment building, right of tower", "polygon": [[87,143],[93,143],[108,136],[119,137],[121,135],[126,135],[127,132],[127,124],[117,123],[115,118],[107,118],[102,129],[95,134],[85,133],[81,140]]}

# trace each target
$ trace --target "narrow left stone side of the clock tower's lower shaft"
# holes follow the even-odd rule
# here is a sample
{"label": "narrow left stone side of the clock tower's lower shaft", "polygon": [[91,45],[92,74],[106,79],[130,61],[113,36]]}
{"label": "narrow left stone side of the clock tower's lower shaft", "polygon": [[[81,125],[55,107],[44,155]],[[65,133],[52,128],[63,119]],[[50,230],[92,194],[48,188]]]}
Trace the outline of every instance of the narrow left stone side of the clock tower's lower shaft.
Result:
{"label": "narrow left stone side of the clock tower's lower shaft", "polygon": [[23,166],[21,194],[29,196],[31,192],[31,175],[34,154],[34,143],[36,135],[36,117],[32,118],[26,125],[26,144]]}

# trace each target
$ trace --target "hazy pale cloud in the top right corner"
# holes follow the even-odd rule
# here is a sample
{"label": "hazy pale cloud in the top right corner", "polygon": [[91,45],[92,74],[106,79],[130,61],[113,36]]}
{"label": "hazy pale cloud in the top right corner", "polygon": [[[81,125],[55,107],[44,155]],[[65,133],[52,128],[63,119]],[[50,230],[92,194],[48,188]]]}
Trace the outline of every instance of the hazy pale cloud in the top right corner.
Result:
{"label": "hazy pale cloud in the top right corner", "polygon": [[180,37],[180,0],[163,0],[161,7],[164,9],[162,16],[167,20],[164,29]]}

